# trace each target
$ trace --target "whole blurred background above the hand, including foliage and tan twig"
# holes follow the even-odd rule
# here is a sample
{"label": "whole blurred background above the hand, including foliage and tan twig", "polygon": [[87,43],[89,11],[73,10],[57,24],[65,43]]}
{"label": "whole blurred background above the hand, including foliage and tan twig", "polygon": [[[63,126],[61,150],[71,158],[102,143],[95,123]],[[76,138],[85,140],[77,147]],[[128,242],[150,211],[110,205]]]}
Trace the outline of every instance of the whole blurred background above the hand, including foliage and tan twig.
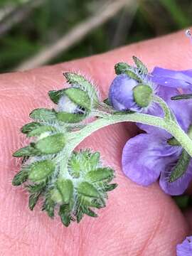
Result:
{"label": "whole blurred background above the hand, including foliage and tan twig", "polygon": [[191,26],[192,0],[0,0],[0,73]]}

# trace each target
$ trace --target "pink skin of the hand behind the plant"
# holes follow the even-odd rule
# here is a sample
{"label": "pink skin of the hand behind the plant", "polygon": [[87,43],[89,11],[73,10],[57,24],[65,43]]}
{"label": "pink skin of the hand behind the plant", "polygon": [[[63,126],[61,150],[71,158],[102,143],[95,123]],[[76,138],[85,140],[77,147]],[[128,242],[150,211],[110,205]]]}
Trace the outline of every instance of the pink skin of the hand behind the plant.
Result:
{"label": "pink skin of the hand behind the plant", "polygon": [[141,58],[149,70],[155,65],[188,69],[192,63],[191,43],[181,31],[91,58],[0,75],[1,255],[172,256],[176,255],[176,245],[192,233],[191,210],[181,213],[158,183],[144,188],[122,174],[122,148],[127,139],[137,134],[134,124],[106,127],[80,145],[99,150],[105,163],[116,170],[119,186],[109,193],[107,207],[99,211],[99,218],[85,217],[79,225],[65,228],[58,218],[51,220],[41,213],[40,206],[33,212],[28,210],[27,193],[11,186],[19,169],[18,159],[11,154],[26,144],[19,129],[29,121],[31,110],[53,106],[47,92],[65,85],[63,71],[86,74],[96,81],[105,98],[114,78],[114,64],[132,63],[132,55]]}

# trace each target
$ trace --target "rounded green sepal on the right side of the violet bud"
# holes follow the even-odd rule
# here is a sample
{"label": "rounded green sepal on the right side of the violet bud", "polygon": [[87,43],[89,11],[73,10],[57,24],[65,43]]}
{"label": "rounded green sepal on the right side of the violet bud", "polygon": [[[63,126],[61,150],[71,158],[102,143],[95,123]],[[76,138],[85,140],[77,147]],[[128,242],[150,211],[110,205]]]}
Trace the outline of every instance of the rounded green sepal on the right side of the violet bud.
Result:
{"label": "rounded green sepal on the right side of the violet bud", "polygon": [[153,95],[153,90],[149,85],[139,84],[133,89],[134,102],[139,105],[139,107],[148,107]]}

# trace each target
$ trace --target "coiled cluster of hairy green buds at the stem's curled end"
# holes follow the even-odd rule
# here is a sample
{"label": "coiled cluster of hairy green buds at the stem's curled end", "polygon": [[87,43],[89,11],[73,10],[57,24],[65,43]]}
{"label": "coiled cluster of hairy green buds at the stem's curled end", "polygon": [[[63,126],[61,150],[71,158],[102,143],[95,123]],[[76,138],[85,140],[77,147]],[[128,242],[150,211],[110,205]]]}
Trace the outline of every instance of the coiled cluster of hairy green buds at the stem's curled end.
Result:
{"label": "coiled cluster of hairy green buds at the stem's curled end", "polygon": [[95,88],[82,75],[64,75],[71,87],[48,92],[58,107],[33,110],[33,122],[21,128],[32,141],[14,153],[23,162],[12,183],[24,184],[31,210],[41,197],[42,210],[51,218],[57,212],[68,226],[71,220],[79,223],[84,214],[97,217],[92,209],[105,207],[107,191],[117,184],[110,183],[114,171],[102,166],[99,152],[74,151],[85,119],[94,115],[100,103]]}

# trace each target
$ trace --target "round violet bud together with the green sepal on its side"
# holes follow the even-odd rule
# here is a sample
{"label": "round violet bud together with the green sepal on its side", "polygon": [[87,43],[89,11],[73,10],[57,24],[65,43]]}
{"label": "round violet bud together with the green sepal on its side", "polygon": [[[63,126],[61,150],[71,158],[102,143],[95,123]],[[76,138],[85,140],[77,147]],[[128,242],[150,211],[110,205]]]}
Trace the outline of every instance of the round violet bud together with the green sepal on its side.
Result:
{"label": "round violet bud together with the green sepal on its side", "polygon": [[[142,94],[142,97],[141,97]],[[117,75],[112,81],[109,100],[115,110],[142,111],[151,100],[152,89],[148,85],[141,85],[126,74]]]}

